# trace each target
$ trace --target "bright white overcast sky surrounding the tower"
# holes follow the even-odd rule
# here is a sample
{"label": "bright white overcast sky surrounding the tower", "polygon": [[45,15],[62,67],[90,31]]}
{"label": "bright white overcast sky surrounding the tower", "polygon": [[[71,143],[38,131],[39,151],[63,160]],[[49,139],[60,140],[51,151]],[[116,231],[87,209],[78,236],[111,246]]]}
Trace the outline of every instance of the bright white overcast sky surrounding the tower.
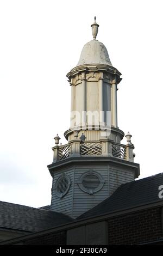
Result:
{"label": "bright white overcast sky surrounding the tower", "polygon": [[140,178],[163,172],[163,1],[0,1],[0,200],[51,203],[53,137],[70,126],[66,74],[92,39],[102,41],[123,80],[118,126],[130,131]]}

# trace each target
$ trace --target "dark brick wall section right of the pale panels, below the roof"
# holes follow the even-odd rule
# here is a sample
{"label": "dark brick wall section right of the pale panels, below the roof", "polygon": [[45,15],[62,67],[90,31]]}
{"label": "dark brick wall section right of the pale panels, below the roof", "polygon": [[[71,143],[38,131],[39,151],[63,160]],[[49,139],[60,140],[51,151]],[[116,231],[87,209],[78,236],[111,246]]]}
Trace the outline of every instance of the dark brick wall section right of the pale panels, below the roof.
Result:
{"label": "dark brick wall section right of the pale panels, below the roof", "polygon": [[108,221],[109,245],[135,245],[161,236],[161,208],[114,217]]}

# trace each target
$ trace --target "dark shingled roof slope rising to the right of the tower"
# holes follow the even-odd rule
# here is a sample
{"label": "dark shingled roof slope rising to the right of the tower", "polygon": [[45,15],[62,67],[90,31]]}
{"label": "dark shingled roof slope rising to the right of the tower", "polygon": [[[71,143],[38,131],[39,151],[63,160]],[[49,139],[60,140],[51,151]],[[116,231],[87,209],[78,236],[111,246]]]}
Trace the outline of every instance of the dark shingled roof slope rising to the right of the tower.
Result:
{"label": "dark shingled roof slope rising to the right of the tower", "polygon": [[162,201],[163,204],[163,199],[158,196],[160,185],[163,185],[163,173],[122,184],[112,196],[80,215],[77,220],[110,214],[159,201]]}

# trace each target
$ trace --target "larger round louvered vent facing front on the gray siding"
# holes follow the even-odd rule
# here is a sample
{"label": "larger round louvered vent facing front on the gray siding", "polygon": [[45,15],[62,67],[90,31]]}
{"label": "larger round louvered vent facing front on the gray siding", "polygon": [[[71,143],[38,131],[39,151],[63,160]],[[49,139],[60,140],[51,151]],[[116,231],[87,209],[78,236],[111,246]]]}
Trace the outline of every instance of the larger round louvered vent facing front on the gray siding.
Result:
{"label": "larger round louvered vent facing front on the gray siding", "polygon": [[101,190],[104,182],[104,179],[99,173],[93,170],[89,170],[89,172],[86,172],[82,176],[80,176],[78,180],[78,185],[80,189],[84,192],[93,194]]}

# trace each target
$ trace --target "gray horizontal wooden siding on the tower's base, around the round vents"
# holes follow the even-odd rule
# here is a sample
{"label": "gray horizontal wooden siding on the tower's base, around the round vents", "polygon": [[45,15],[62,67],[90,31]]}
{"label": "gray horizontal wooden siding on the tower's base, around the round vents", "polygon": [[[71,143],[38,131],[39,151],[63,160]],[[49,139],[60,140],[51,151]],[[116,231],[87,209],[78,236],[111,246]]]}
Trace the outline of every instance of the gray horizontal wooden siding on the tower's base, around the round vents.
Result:
{"label": "gray horizontal wooden siding on the tower's base, around the round vents", "polygon": [[[95,170],[105,179],[102,189],[93,194],[82,191],[78,185],[78,179],[80,176],[89,169]],[[59,198],[55,195],[53,188],[55,182],[62,173],[70,176],[71,186],[67,194],[63,198]],[[58,170],[54,173],[53,177],[52,211],[62,212],[63,214],[77,218],[79,215],[90,210],[97,204],[101,203],[104,199],[111,196],[118,186],[133,180],[133,172],[128,172],[125,168],[119,169],[116,167],[110,167],[109,164],[104,164],[102,166],[100,166],[100,164],[92,164],[91,167],[83,164]]]}

